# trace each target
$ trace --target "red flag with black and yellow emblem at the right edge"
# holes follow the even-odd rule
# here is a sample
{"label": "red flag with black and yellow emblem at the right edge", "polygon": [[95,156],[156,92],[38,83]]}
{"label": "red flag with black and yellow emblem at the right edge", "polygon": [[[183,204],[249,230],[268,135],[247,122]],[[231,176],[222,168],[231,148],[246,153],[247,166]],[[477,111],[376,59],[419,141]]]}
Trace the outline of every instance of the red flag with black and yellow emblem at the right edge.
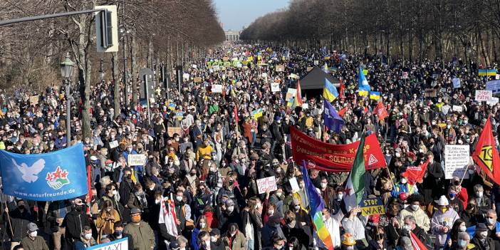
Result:
{"label": "red flag with black and yellow emblem at the right edge", "polygon": [[496,184],[500,184],[500,156],[495,147],[495,137],[493,137],[493,133],[491,132],[489,117],[486,120],[481,136],[479,136],[476,150],[472,153],[472,159],[486,172],[488,177],[493,179]]}

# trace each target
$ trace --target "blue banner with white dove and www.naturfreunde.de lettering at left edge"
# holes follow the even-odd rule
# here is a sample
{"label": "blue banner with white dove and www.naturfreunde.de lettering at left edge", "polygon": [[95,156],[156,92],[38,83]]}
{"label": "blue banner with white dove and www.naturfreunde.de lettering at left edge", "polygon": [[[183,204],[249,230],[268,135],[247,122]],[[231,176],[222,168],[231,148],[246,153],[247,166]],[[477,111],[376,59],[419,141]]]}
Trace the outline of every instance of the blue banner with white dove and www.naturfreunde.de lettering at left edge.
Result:
{"label": "blue banner with white dove and www.naturfreunde.de lettering at left edge", "polygon": [[20,155],[0,150],[4,194],[33,201],[71,199],[88,193],[83,144],[56,152]]}

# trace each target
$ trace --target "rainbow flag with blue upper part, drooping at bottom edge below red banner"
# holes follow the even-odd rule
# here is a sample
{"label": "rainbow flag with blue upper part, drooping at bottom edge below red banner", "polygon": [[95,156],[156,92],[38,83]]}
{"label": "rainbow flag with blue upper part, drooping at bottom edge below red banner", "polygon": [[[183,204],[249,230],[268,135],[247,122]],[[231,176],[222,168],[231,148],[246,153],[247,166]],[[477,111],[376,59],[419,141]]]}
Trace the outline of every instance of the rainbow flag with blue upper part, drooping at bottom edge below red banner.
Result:
{"label": "rainbow flag with blue upper part, drooping at bottom edge below red banner", "polygon": [[323,209],[325,208],[325,201],[316,191],[313,182],[309,179],[309,175],[306,168],[306,162],[302,163],[302,176],[304,179],[304,184],[306,185],[307,195],[309,197],[309,206],[311,206],[311,219],[313,219],[314,227],[316,228],[316,234],[318,238],[323,241],[328,250],[333,250],[333,242],[330,236],[330,232],[323,223]]}

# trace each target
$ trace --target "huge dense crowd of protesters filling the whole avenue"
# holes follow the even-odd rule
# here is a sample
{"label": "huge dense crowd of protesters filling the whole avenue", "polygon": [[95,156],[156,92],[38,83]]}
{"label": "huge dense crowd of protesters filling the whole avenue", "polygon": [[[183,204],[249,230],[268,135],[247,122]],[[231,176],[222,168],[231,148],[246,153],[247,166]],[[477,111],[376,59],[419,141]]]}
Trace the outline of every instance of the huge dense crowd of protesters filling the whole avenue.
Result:
{"label": "huge dense crowd of protesters filling the whole avenue", "polygon": [[[387,64],[380,55],[324,52],[227,43],[184,67],[181,88],[166,95],[157,85],[151,122],[145,105],[124,105],[130,96],[122,95],[122,109],[114,110],[113,84],[96,83],[90,137],[83,137],[79,105],[71,107],[73,136],[66,137],[66,98],[58,88],[38,93],[37,102],[30,101],[28,86],[2,93],[0,149],[37,154],[81,142],[92,185],[88,197],[57,202],[4,195],[2,243],[72,250],[128,237],[129,249],[137,250],[325,249],[308,212],[301,165],[292,160],[295,126],[331,144],[375,134],[387,160],[387,168],[365,175],[365,197],[381,197],[385,207],[385,214],[370,217],[359,208],[346,211],[347,172],[309,170],[325,201],[323,220],[335,249],[410,250],[410,232],[429,249],[500,249],[499,185],[473,165],[465,179],[444,177],[444,145],[474,148],[489,116],[498,135],[500,103],[474,101],[474,90],[487,80],[477,75],[483,66],[460,58]],[[211,66],[224,57],[251,60]],[[329,73],[345,85],[333,101],[344,110],[340,132],[324,129],[322,96],[304,96],[307,108],[285,100],[295,84],[289,76],[306,75],[315,63],[334,68]],[[284,71],[275,70],[278,64]],[[359,68],[368,71],[380,100],[356,93]],[[459,88],[452,78],[461,79]],[[281,90],[271,92],[271,83]],[[222,93],[213,93],[213,85],[222,85]],[[385,119],[373,112],[380,101]],[[136,154],[147,156],[145,164],[127,165]],[[407,182],[406,168],[427,160],[423,182]],[[259,194],[256,180],[271,176],[277,189]],[[298,191],[288,182],[293,178]],[[176,230],[160,218],[166,201],[174,204]]]}

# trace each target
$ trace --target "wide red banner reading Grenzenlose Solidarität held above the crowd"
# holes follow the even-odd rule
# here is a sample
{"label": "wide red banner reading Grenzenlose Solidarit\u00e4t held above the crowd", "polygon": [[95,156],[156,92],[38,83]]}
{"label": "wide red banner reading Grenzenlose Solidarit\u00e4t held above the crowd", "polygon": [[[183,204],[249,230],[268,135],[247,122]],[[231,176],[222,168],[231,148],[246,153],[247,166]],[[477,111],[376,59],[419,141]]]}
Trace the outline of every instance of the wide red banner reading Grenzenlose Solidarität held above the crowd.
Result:
{"label": "wide red banner reading Grenzenlose Solidarit\u00e4t held above the crowd", "polygon": [[[353,167],[359,141],[333,145],[316,140],[296,127],[290,127],[292,156],[297,164],[306,161],[306,167],[326,172],[349,172]],[[385,157],[375,134],[369,135],[363,148],[366,170],[385,167]]]}

